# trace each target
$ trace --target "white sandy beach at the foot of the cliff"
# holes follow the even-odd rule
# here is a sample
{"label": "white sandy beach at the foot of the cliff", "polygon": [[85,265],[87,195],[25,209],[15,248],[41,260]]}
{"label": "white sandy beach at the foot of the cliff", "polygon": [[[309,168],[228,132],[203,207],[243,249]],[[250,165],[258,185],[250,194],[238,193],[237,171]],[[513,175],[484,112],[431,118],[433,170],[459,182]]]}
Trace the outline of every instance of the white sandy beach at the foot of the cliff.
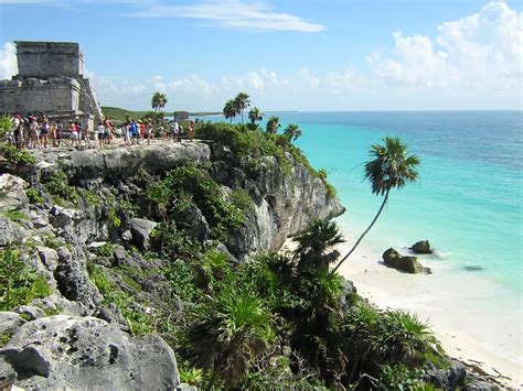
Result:
{"label": "white sandy beach at the foot of the cliff", "polygon": [[[346,253],[349,246],[343,243],[338,250]],[[339,271],[354,283],[361,296],[376,306],[408,309],[427,322],[450,357],[481,369],[506,387],[523,388],[521,317],[470,306],[478,298],[477,289],[482,290],[481,296],[487,296],[498,286],[473,273],[452,276],[445,271],[446,265],[428,257],[419,260],[434,273],[398,272],[383,265],[376,251],[360,247]]]}

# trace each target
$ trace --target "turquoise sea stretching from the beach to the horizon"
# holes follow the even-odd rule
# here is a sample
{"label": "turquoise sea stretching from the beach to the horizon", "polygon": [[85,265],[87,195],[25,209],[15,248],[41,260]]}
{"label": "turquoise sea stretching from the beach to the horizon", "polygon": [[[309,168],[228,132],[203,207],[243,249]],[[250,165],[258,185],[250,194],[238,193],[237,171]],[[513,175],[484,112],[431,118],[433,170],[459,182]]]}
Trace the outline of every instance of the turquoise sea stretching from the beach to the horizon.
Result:
{"label": "turquoise sea stretching from the beach to the horizon", "polygon": [[[478,265],[520,295],[523,254],[521,111],[279,112],[299,124],[297,145],[348,211],[348,241],[371,221],[381,198],[363,181],[371,144],[402,138],[421,159],[420,181],[394,191],[363,245],[376,251],[429,239],[455,273]],[[263,123],[265,126],[265,123]]]}

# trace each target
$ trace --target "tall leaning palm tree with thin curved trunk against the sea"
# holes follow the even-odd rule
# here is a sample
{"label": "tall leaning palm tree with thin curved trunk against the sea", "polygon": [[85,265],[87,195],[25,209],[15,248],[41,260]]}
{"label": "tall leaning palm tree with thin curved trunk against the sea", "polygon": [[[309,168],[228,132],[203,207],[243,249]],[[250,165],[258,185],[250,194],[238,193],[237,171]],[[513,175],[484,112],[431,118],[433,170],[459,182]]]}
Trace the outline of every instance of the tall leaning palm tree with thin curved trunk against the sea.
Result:
{"label": "tall leaning palm tree with thin curved trunk against the sea", "polygon": [[363,231],[348,254],[332,270],[332,273],[335,273],[340,265],[354,252],[365,235],[374,226],[374,222],[376,222],[387,204],[391,189],[402,188],[407,182],[416,182],[419,177],[416,171],[417,165],[420,163],[419,158],[416,154],[407,156],[408,148],[401,139],[387,135],[382,141],[383,145],[373,144],[371,148],[370,155],[374,159],[365,163],[365,178],[371,183],[372,194],[385,197],[371,225]]}

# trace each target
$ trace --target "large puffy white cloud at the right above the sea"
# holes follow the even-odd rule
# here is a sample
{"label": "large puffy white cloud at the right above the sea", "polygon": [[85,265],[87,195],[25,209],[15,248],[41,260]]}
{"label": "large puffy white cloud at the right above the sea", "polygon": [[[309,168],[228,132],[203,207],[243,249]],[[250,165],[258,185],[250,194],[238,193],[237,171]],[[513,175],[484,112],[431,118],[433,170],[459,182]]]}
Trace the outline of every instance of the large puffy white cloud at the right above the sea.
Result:
{"label": "large puffy white cloud at the right above the sea", "polygon": [[367,57],[371,69],[385,82],[428,88],[521,88],[523,13],[505,2],[490,2],[437,31],[434,40],[395,32],[389,53]]}

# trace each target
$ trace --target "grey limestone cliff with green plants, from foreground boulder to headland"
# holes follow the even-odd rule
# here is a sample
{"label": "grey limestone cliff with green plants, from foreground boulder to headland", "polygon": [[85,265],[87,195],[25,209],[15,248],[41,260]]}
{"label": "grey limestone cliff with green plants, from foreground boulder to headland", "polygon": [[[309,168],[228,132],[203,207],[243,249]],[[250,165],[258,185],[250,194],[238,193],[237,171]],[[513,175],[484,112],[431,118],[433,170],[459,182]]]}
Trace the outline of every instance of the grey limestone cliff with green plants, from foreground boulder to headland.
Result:
{"label": "grey limestone cliff with green plants, from foreground boulder to headland", "polygon": [[[243,261],[278,249],[312,218],[344,210],[291,156],[287,167],[264,156],[254,175],[248,160],[217,143],[41,151],[36,158],[31,167],[3,165],[0,247],[17,249],[24,273],[43,276],[51,291],[11,305],[15,313],[0,312],[0,387],[181,387],[173,350],[148,335],[162,329],[160,322],[172,327],[181,305],[164,272],[172,260],[146,252],[156,229],[174,222],[177,232]],[[149,203],[149,189],[188,163],[198,163],[225,196],[248,194],[252,205],[238,229],[218,236],[204,208],[160,210]]]}

